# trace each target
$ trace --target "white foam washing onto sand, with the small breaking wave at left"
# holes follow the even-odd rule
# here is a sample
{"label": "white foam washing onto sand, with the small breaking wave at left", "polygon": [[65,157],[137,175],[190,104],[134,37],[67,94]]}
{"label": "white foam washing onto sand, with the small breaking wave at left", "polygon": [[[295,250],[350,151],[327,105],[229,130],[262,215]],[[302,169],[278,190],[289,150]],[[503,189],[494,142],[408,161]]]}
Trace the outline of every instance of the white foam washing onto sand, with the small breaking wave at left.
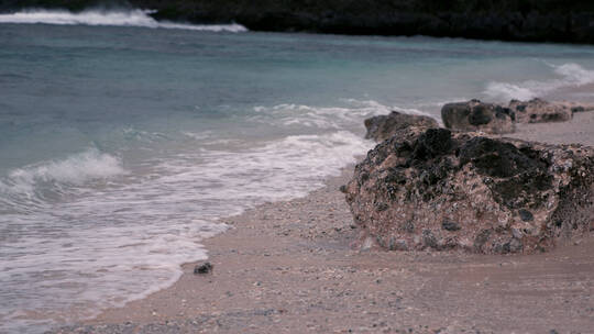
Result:
{"label": "white foam washing onto sand, with the small breaking wave at left", "polygon": [[[26,214],[0,214],[0,226],[34,231],[2,235],[10,244],[0,272],[10,279],[0,289],[9,310],[0,314],[0,332],[94,316],[168,287],[180,264],[207,258],[199,242],[227,229],[219,218],[305,196],[372,146],[345,130],[289,135],[239,152],[204,146],[155,159],[132,181],[89,188],[52,205],[31,209],[29,201]],[[76,181],[80,189],[89,178],[124,171],[117,158],[97,151],[22,170],[13,177]]]}

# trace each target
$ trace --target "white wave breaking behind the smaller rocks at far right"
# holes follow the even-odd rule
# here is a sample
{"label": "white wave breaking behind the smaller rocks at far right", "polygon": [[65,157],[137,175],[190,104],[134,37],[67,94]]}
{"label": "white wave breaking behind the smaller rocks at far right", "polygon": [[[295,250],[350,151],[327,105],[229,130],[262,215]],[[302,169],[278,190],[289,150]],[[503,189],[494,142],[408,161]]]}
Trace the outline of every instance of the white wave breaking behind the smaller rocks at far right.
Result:
{"label": "white wave breaking behind the smaller rocks at far right", "polygon": [[519,84],[493,81],[487,85],[484,93],[492,99],[502,101],[512,99],[530,100],[543,97],[561,88],[594,84],[594,70],[585,69],[578,64],[547,65],[560,78],[543,81],[527,80]]}

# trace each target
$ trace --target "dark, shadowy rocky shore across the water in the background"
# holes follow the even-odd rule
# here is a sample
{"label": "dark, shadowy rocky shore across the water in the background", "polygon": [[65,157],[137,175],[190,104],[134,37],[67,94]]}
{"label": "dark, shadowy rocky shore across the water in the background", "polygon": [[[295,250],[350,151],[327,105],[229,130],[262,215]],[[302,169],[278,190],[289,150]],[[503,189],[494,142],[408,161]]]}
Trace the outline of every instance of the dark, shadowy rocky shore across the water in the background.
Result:
{"label": "dark, shadowy rocky shore across the water in the background", "polygon": [[252,31],[429,35],[481,40],[594,43],[592,1],[354,0],[4,0],[22,8],[142,8],[157,20],[237,22]]}

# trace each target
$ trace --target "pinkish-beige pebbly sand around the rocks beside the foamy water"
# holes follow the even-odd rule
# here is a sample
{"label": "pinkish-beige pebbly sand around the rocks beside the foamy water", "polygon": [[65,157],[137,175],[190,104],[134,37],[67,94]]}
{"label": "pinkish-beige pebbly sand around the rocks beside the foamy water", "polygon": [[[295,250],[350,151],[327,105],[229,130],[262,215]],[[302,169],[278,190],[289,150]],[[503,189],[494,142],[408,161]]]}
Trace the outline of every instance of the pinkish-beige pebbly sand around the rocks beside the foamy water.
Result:
{"label": "pinkish-beige pebbly sand around the rocks beside the foamy water", "polygon": [[[515,137],[594,146],[594,112]],[[530,256],[358,250],[352,166],[306,198],[224,220],[173,287],[57,333],[593,333],[594,237]]]}

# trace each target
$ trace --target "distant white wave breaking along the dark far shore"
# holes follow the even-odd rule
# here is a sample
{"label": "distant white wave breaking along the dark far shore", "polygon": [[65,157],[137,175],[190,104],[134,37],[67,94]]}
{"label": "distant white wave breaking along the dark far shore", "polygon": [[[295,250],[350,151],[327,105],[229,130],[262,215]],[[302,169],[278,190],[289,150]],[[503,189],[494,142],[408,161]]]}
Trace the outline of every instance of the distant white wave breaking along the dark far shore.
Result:
{"label": "distant white wave breaking along the dark far shore", "polygon": [[58,25],[112,25],[142,26],[152,29],[182,29],[210,32],[245,32],[240,24],[195,25],[173,22],[160,22],[151,18],[152,11],[99,11],[87,10],[79,13],[61,10],[29,10],[10,14],[0,14],[0,23],[58,24]]}

